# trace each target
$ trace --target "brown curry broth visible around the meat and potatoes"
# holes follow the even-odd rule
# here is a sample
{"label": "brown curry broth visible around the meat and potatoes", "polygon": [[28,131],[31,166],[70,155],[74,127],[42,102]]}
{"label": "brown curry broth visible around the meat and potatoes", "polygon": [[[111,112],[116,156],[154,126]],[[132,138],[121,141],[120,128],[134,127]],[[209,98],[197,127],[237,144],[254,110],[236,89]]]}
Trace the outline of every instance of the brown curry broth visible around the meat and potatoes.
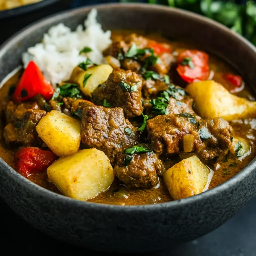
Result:
{"label": "brown curry broth visible around the meat and potatoes", "polygon": [[[112,32],[112,37],[116,37],[118,35],[129,34],[134,31],[115,31]],[[143,34],[143,33],[140,33]],[[172,45],[173,50],[177,53],[182,52],[185,49],[191,49],[191,44],[186,44],[184,42],[179,41],[169,41],[166,38],[161,37],[158,34],[147,34],[148,38],[154,39],[158,42],[167,42]],[[199,48],[200,49],[200,48]],[[213,80],[221,83],[224,87],[228,88],[229,84],[222,78],[223,73],[234,72],[232,68],[230,68],[225,62],[222,60],[210,55],[209,58],[210,69],[214,72]],[[2,112],[5,102],[7,101],[6,95],[8,95],[9,88],[13,85],[16,85],[19,81],[21,71],[10,78],[4,86],[0,90],[0,110]],[[233,91],[232,93],[245,97],[250,100],[254,100],[254,97],[246,85],[243,84],[242,90]],[[0,123],[0,157],[9,164],[12,168],[15,169],[14,164],[14,150],[8,149],[4,143],[3,139],[3,128],[4,128],[4,119],[1,119]],[[213,166],[209,166],[213,171],[213,177],[211,183],[209,185],[209,189],[220,185],[226,180],[233,177],[240,170],[242,170],[245,166],[247,166],[256,155],[256,119],[248,119],[248,120],[235,120],[230,122],[230,125],[234,129],[234,135],[242,138],[246,138],[250,141],[252,150],[248,155],[243,157],[235,157],[235,158],[224,158],[222,162],[220,162],[215,168]],[[183,158],[191,156],[191,153],[183,154],[180,157],[176,157],[174,159],[166,159],[163,160],[163,163],[167,168],[170,168],[175,163],[181,161]],[[40,174],[32,174],[28,177],[28,179],[39,186],[47,188],[56,193],[61,192],[58,188],[47,179],[47,173],[43,172]],[[104,203],[104,204],[117,204],[117,205],[142,205],[142,204],[154,204],[154,203],[162,203],[173,200],[170,196],[167,188],[165,187],[162,178],[159,178],[159,184],[153,189],[127,189],[126,186],[122,183],[119,183],[117,179],[114,180],[111,187],[104,193],[101,193],[96,198],[88,200],[90,202],[95,203]]]}

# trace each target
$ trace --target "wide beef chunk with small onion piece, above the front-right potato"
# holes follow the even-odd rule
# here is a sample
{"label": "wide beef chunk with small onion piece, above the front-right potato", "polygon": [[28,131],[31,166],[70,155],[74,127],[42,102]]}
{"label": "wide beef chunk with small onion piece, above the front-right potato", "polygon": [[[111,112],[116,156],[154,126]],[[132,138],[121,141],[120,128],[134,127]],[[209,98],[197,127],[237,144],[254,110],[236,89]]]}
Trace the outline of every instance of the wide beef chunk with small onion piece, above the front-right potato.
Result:
{"label": "wide beef chunk with small onion piece, above the front-right potato", "polygon": [[157,116],[147,121],[151,148],[158,154],[179,154],[183,151],[183,136],[194,136],[194,151],[207,162],[218,162],[231,146],[233,129],[222,118],[199,120],[183,114]]}

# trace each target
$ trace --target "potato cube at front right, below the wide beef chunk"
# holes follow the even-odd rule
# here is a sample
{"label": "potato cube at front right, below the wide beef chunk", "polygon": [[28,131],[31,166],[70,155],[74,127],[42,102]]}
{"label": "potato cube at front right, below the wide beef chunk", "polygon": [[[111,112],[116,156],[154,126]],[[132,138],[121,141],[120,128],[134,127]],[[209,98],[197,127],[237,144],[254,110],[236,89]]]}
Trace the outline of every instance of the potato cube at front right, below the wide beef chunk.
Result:
{"label": "potato cube at front right, below the wide beef chunk", "polygon": [[168,169],[164,182],[171,196],[178,200],[202,193],[209,183],[210,173],[197,156],[191,156]]}

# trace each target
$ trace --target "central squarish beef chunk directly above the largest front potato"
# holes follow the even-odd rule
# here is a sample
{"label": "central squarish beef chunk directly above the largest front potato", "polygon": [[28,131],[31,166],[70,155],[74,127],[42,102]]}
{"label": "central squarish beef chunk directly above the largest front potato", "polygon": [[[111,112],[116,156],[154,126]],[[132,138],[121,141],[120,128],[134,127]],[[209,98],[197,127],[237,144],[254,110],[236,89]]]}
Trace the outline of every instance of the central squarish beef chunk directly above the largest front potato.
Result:
{"label": "central squarish beef chunk directly above the largest front potato", "polygon": [[117,154],[138,143],[139,136],[122,108],[86,106],[82,109],[81,140],[89,148],[102,150],[113,164]]}

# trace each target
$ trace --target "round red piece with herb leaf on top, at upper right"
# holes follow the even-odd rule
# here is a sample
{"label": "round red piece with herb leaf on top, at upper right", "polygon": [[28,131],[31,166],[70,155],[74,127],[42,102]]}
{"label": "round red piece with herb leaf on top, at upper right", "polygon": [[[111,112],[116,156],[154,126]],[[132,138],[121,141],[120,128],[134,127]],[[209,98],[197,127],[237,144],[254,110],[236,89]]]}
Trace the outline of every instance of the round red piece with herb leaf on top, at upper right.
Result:
{"label": "round red piece with herb leaf on top, at upper right", "polygon": [[192,83],[209,77],[209,56],[205,52],[186,50],[177,61],[177,71],[184,81]]}

